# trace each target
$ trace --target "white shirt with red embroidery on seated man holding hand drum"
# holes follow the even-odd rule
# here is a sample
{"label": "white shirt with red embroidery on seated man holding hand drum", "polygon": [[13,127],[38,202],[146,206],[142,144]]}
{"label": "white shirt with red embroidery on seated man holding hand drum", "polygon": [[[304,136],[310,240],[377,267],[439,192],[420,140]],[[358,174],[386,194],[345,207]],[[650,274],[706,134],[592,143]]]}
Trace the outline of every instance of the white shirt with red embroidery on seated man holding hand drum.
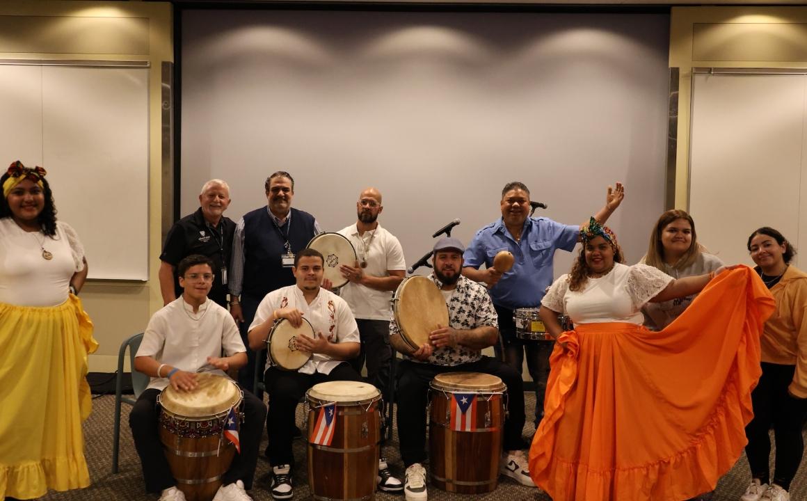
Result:
{"label": "white shirt with red embroidery on seated man holding hand drum", "polygon": [[[273,290],[261,299],[261,304],[257,306],[255,319],[249,330],[253,330],[258,325],[272,318],[275,310],[280,308],[297,308],[303,312],[303,317],[314,328],[314,333],[322,333],[328,337],[333,334],[332,343],[360,342],[358,336],[358,325],[353,313],[350,311],[348,303],[330,290],[320,288],[316,298],[308,304],[303,296],[303,290],[298,286],[286,286],[278,290]],[[341,364],[341,360],[333,360],[324,353],[314,353],[311,360],[300,367],[297,371],[303,374],[330,374],[334,367]],[[266,367],[270,366],[270,359],[267,357]]]}

